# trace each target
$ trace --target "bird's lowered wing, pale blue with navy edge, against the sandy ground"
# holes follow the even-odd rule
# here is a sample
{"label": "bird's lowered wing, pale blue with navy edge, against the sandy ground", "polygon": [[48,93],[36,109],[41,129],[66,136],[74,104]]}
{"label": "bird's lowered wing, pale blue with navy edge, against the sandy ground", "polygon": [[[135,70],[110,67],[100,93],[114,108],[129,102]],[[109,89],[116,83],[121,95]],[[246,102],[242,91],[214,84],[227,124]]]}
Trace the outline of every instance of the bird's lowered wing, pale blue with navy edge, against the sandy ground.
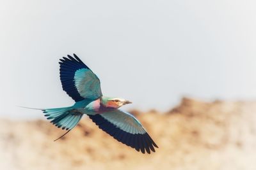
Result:
{"label": "bird's lowered wing, pale blue with navy edge, against the sandy ground", "polygon": [[116,140],[127,146],[135,148],[138,152],[155,152],[156,143],[150,138],[147,131],[130,113],[121,110],[108,111],[97,115],[88,115],[100,129],[113,136]]}

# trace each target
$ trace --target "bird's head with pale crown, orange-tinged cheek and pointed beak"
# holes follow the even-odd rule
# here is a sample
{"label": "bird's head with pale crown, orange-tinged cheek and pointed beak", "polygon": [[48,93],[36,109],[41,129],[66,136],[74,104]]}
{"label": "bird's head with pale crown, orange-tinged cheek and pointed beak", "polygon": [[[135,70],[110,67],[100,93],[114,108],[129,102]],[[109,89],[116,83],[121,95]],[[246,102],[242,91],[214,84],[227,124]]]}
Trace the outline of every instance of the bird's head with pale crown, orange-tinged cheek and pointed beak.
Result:
{"label": "bird's head with pale crown, orange-tinged cheek and pointed beak", "polygon": [[107,108],[120,108],[125,104],[130,104],[131,101],[127,101],[125,99],[120,99],[116,97],[102,97],[101,103]]}

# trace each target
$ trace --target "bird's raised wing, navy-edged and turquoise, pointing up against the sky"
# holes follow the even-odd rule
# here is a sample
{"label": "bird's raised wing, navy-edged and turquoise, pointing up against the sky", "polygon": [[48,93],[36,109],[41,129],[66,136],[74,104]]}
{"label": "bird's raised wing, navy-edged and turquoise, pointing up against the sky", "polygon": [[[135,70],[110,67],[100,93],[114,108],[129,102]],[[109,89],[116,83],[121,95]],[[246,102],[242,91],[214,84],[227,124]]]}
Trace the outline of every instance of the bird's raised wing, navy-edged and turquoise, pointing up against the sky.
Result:
{"label": "bird's raised wing, navy-edged and turquoise, pointing up against the sky", "polygon": [[60,80],[63,90],[76,102],[102,96],[99,78],[78,57],[60,59]]}

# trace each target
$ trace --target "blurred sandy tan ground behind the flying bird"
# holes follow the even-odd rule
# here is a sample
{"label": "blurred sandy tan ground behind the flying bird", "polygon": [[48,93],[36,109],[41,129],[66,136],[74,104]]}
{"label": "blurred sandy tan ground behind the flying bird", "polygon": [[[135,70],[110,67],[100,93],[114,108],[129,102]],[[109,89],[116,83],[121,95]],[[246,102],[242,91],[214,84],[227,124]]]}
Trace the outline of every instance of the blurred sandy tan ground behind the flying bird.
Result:
{"label": "blurred sandy tan ground behind the flying bird", "polygon": [[65,138],[43,120],[0,120],[0,169],[256,169],[256,103],[182,99],[168,113],[132,111],[156,141],[136,152],[83,118]]}

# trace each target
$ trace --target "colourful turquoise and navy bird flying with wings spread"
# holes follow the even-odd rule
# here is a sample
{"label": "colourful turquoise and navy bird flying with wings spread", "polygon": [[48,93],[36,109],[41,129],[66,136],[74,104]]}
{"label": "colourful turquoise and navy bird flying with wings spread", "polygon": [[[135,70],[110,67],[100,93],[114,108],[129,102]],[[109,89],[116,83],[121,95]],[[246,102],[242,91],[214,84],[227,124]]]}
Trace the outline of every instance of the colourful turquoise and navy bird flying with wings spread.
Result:
{"label": "colourful turquoise and navy bird flying with wings spread", "polygon": [[62,57],[59,64],[62,89],[75,103],[65,108],[40,109],[47,120],[67,131],[67,134],[76,127],[83,115],[88,115],[102,131],[117,141],[141,153],[156,152],[158,146],[141,122],[131,113],[120,110],[121,106],[131,104],[131,101],[102,96],[97,75],[75,53],[73,56]]}

